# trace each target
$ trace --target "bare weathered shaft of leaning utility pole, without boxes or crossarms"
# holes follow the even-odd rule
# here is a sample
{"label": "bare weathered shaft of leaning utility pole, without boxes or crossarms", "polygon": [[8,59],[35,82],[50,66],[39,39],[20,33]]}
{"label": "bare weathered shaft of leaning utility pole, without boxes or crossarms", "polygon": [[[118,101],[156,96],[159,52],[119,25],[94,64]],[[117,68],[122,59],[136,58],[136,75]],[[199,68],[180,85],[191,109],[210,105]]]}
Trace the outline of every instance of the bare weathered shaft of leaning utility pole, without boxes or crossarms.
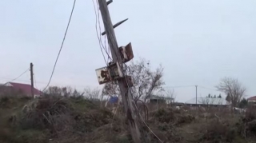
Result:
{"label": "bare weathered shaft of leaning utility pole, without boxes or crossarms", "polygon": [[[113,62],[118,62],[117,64],[119,64],[119,66],[121,66],[122,69],[122,57],[118,50],[118,42],[114,34],[114,27],[111,22],[110,13],[107,7],[107,5],[110,4],[110,2],[106,2],[106,0],[98,0],[99,9],[101,10],[102,20],[104,23],[108,43],[110,45]],[[126,117],[129,122],[131,136],[135,143],[141,143],[141,133],[138,128],[138,111],[134,108],[134,99],[130,93],[130,89],[127,87],[126,80],[119,79],[118,85],[122,94],[122,103],[126,109]]]}

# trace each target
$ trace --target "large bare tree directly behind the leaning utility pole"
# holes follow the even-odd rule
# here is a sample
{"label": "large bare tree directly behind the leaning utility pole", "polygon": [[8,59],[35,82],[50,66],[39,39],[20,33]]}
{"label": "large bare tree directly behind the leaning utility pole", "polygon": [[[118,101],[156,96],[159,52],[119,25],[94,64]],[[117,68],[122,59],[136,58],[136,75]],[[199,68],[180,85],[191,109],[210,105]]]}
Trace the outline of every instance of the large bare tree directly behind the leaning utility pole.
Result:
{"label": "large bare tree directly behind the leaning utility pole", "polygon": [[[128,66],[127,74],[133,77],[134,86],[132,87],[134,99],[148,99],[153,93],[162,89],[165,83],[162,81],[163,68],[158,66],[154,71],[150,68],[150,62],[140,58],[137,62],[131,62]],[[116,82],[106,83],[102,90],[105,95],[120,94],[120,89]]]}

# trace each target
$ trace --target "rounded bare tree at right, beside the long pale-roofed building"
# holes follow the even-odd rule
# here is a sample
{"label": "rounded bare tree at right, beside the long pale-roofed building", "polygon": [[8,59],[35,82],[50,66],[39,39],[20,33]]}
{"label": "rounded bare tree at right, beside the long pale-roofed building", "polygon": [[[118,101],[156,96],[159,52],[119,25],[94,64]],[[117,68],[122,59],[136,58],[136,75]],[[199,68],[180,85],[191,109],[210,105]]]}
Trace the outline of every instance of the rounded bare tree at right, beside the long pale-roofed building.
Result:
{"label": "rounded bare tree at right, beside the long pale-roofed building", "polygon": [[238,106],[246,92],[246,88],[242,86],[238,79],[231,77],[222,78],[216,88],[230,97],[230,102],[233,107]]}

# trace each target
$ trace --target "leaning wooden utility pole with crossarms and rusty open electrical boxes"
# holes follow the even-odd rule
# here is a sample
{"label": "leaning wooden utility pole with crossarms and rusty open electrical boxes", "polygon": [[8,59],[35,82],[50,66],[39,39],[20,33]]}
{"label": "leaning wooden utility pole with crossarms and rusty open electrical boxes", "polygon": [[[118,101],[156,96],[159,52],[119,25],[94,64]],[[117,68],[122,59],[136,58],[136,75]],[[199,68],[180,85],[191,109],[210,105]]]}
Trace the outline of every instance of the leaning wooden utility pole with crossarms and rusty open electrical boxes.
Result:
{"label": "leaning wooden utility pole with crossarms and rusty open electrical boxes", "polygon": [[[134,99],[132,97],[132,94],[130,93],[130,83],[127,81],[130,80],[130,77],[124,75],[126,73],[123,72],[123,62],[127,62],[130,61],[130,59],[127,59],[127,53],[126,52],[131,52],[131,46],[130,44],[127,45],[126,47],[121,47],[118,48],[118,42],[116,40],[115,34],[114,34],[114,28],[118,25],[120,25],[122,22],[125,22],[126,20],[122,21],[122,22],[118,22],[116,25],[112,25],[111,19],[110,19],[110,13],[108,10],[107,5],[110,4],[113,1],[109,1],[106,2],[106,0],[98,0],[98,4],[99,4],[99,9],[101,10],[101,14],[102,14],[102,20],[104,23],[104,27],[105,27],[105,32],[102,33],[106,34],[107,39],[108,39],[108,43],[110,45],[110,50],[111,50],[111,55],[112,55],[112,65],[114,64],[115,68],[118,69],[118,78],[114,78],[116,76],[115,72],[117,70],[109,70],[111,79],[115,79],[115,81],[118,81],[118,85],[122,94],[122,103],[126,109],[126,117],[128,119],[129,122],[129,127],[130,127],[130,133],[131,136],[134,140],[135,143],[141,143],[141,133],[139,131],[139,121],[138,121],[138,110],[135,109],[135,104],[134,104]],[[129,49],[130,48],[130,49]],[[123,53],[122,53],[122,52]],[[125,59],[126,58],[126,59]],[[128,55],[128,58],[131,58],[130,55]],[[132,54],[132,58],[133,58],[133,54]],[[108,65],[107,67],[108,69],[110,68],[110,65]],[[97,71],[96,71],[97,72]],[[104,71],[101,72],[101,75],[106,75],[104,73]],[[100,78],[100,76],[98,76],[98,78]],[[108,80],[109,78],[104,78],[105,80]],[[113,81],[113,80],[111,80]],[[101,83],[100,83],[101,84]]]}

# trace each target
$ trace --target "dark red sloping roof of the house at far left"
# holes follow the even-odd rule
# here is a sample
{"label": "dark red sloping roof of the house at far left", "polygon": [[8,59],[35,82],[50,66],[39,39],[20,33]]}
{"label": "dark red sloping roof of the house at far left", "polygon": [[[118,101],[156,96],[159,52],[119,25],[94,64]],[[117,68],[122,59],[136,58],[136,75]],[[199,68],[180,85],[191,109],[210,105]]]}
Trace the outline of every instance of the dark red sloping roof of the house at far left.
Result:
{"label": "dark red sloping roof of the house at far left", "polygon": [[[9,82],[9,83],[14,89],[22,90],[22,92],[26,94],[31,94],[31,85],[27,85],[23,83],[15,83],[15,82]],[[34,88],[34,94],[41,95],[42,92]]]}

